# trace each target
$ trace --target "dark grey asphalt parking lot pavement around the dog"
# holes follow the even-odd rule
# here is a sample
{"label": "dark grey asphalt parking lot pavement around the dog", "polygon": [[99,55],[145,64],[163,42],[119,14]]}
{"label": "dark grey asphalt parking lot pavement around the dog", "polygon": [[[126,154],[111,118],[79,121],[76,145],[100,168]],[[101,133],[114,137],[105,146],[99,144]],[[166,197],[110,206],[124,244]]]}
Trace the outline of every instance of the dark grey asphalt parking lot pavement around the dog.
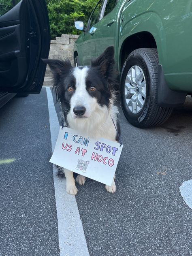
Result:
{"label": "dark grey asphalt parking lot pavement around the dog", "polygon": [[[179,189],[192,179],[192,98],[156,128],[135,128],[119,112],[117,192],[91,179],[77,185],[90,256],[192,255],[192,209]],[[0,138],[0,256],[59,256],[45,88],[0,109]]]}

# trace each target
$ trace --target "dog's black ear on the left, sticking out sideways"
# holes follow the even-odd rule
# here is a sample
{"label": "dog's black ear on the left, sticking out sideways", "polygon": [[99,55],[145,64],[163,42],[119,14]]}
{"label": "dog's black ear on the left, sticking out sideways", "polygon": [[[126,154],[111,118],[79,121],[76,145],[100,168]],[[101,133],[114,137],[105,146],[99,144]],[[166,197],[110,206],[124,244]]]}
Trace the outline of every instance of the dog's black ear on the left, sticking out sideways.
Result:
{"label": "dog's black ear on the left, sticking out sideways", "polygon": [[70,60],[52,60],[52,59],[42,59],[43,62],[49,65],[53,75],[61,75],[65,73],[65,70],[71,68]]}

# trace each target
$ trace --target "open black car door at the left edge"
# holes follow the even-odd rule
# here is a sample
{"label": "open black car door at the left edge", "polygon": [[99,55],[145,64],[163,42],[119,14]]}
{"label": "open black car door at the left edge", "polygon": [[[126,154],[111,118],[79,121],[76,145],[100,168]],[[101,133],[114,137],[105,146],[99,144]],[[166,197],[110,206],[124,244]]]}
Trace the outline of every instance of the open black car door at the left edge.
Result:
{"label": "open black car door at the left edge", "polygon": [[13,8],[0,13],[0,91],[39,93],[50,48],[45,0],[4,2]]}

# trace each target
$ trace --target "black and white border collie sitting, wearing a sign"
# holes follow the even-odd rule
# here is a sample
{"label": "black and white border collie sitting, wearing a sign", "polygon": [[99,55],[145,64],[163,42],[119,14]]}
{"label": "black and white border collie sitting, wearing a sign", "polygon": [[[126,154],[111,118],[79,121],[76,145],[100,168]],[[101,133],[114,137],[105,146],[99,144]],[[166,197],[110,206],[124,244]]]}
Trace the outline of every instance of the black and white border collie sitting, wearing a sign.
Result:
{"label": "black and white border collie sitting, wearing a sign", "polygon": [[[67,59],[43,61],[53,73],[53,90],[60,102],[64,125],[86,133],[87,137],[117,141],[119,125],[118,109],[113,105],[113,47],[108,47],[92,60],[91,66],[72,67]],[[67,193],[77,194],[73,172],[62,167],[58,171],[59,175],[65,174]],[[77,175],[76,181],[84,185],[85,177]],[[105,188],[108,192],[115,192],[114,179],[111,186]]]}

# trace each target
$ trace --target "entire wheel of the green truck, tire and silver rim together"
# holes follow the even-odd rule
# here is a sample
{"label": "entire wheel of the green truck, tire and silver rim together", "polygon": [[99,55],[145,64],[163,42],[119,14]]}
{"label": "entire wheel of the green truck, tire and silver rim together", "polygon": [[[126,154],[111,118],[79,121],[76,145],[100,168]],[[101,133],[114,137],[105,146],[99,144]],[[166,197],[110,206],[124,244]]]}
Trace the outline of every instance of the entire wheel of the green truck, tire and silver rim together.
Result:
{"label": "entire wheel of the green truck, tire and silver rim together", "polygon": [[127,120],[139,128],[163,124],[173,110],[158,106],[158,63],[156,48],[140,48],[130,53],[122,68],[122,109]]}

